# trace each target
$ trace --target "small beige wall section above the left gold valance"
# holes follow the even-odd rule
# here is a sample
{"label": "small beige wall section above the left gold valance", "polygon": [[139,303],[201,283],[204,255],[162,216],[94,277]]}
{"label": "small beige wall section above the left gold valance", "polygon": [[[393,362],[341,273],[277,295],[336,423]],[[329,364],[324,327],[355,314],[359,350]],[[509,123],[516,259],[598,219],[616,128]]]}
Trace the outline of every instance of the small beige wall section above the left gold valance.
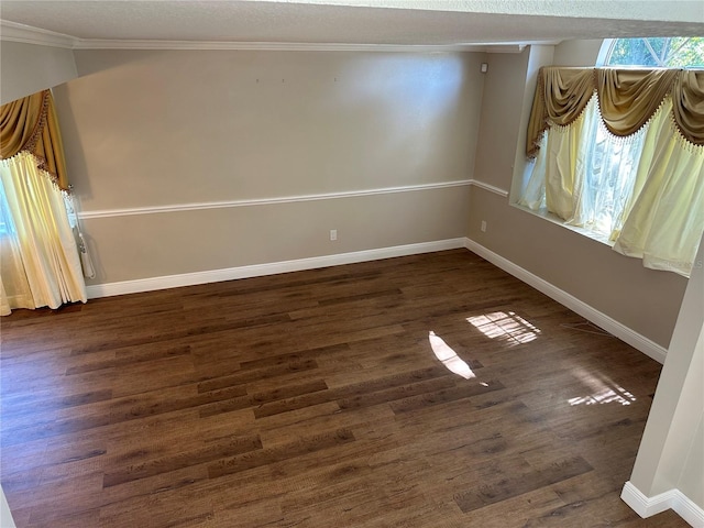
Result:
{"label": "small beige wall section above the left gold valance", "polygon": [[0,105],[76,77],[70,50],[0,42]]}

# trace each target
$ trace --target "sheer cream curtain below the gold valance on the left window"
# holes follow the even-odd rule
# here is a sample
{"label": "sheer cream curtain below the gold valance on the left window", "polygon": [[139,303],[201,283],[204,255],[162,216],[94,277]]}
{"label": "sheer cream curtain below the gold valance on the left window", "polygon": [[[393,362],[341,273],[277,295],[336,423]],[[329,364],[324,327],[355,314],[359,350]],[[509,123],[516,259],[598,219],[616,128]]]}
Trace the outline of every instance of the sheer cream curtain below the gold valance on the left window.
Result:
{"label": "sheer cream curtain below the gold valance on the left window", "polygon": [[62,191],[22,152],[0,162],[0,294],[14,308],[58,308],[86,301],[86,285]]}

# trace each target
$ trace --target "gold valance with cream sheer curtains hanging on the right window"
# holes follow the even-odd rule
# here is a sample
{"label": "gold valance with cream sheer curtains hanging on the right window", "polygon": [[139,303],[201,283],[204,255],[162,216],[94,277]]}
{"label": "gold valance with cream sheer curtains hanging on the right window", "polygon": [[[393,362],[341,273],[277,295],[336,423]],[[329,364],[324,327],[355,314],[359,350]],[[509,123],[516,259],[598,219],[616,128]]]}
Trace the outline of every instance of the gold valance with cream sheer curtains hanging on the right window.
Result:
{"label": "gold valance with cream sheer curtains hanging on the right window", "polygon": [[542,68],[518,204],[689,276],[704,231],[704,72],[651,72]]}

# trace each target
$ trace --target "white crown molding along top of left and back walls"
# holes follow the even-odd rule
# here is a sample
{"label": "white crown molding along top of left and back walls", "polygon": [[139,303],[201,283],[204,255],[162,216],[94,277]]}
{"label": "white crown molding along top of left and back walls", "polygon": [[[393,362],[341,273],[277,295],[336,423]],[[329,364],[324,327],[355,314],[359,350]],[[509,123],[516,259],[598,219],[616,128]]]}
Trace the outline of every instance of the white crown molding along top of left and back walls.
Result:
{"label": "white crown molding along top of left and back walls", "polygon": [[526,43],[361,44],[310,42],[156,41],[78,38],[63,33],[0,20],[0,40],[66,50],[235,50],[270,52],[381,52],[381,53],[520,53]]}

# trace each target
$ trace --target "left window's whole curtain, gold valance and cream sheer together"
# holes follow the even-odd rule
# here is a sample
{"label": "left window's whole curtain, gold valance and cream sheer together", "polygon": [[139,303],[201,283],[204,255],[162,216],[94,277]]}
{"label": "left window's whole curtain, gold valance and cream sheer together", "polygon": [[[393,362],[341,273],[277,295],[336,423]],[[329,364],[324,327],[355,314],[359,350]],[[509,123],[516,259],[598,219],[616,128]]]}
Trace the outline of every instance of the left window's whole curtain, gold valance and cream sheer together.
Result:
{"label": "left window's whole curtain, gold valance and cream sheer together", "polygon": [[[0,107],[0,314],[86,301],[51,92]],[[62,190],[63,189],[63,190]]]}

